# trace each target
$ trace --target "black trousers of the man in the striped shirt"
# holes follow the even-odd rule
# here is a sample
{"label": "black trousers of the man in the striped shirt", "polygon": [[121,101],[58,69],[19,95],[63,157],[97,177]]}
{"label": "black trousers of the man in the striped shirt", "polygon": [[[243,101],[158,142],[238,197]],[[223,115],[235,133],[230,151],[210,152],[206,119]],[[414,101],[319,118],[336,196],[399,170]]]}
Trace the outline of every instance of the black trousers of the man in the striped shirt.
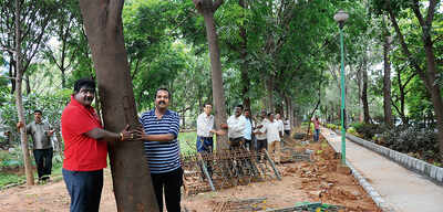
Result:
{"label": "black trousers of the man in the striped shirt", "polygon": [[151,173],[151,178],[159,212],[163,212],[163,192],[165,193],[166,210],[168,212],[181,212],[183,169],[178,168],[166,173]]}

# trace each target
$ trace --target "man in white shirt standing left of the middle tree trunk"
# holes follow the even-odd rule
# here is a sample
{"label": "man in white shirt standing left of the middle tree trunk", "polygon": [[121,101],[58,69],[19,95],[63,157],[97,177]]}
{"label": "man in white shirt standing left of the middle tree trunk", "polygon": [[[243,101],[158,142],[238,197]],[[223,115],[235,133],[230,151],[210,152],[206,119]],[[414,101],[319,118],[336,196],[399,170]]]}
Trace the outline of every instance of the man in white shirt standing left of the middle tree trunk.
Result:
{"label": "man in white shirt standing left of the middle tree trunk", "polygon": [[213,152],[214,150],[214,116],[210,114],[213,105],[206,103],[203,113],[197,118],[197,151]]}

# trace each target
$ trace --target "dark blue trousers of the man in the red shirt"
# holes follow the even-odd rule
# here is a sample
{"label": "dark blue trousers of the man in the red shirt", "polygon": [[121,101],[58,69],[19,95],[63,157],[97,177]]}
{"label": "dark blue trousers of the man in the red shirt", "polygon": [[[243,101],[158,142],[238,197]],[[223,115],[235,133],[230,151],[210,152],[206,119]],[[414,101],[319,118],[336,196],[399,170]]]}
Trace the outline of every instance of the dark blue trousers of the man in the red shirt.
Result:
{"label": "dark blue trousers of the man in the red shirt", "polygon": [[62,170],[71,197],[70,212],[99,212],[103,189],[103,170]]}

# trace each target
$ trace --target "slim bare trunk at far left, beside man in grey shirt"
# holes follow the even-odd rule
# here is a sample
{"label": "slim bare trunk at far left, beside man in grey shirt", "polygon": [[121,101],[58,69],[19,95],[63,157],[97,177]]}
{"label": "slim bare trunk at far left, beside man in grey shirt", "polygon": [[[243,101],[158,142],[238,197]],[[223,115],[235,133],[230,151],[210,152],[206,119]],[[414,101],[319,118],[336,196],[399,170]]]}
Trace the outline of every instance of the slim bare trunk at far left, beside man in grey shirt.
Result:
{"label": "slim bare trunk at far left, beside man in grey shirt", "polygon": [[[21,23],[20,23],[20,1],[16,0],[16,107],[17,113],[19,115],[19,121],[23,123],[27,126],[24,119],[24,108],[23,108],[23,99],[22,99],[22,92],[21,85],[23,82],[23,70],[21,67]],[[28,136],[25,127],[20,128],[20,140],[21,140],[21,150],[23,152],[23,163],[24,163],[24,171],[27,174],[27,184],[33,186],[34,184],[34,176],[31,166],[31,158],[29,156],[28,150]]]}

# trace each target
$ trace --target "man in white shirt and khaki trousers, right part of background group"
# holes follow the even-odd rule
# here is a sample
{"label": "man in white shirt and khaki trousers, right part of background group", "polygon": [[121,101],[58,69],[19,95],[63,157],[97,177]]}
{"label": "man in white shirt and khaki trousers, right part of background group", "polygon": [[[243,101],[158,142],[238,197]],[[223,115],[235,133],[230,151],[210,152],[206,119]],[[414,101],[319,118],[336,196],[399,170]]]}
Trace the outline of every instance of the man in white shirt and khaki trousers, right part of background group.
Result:
{"label": "man in white shirt and khaki trousers, right part of background group", "polygon": [[266,137],[268,140],[268,149],[269,149],[269,155],[271,159],[276,163],[280,163],[280,135],[279,135],[279,127],[280,125],[277,123],[277,120],[274,119],[274,114],[269,113],[268,114],[269,123],[266,125]]}

